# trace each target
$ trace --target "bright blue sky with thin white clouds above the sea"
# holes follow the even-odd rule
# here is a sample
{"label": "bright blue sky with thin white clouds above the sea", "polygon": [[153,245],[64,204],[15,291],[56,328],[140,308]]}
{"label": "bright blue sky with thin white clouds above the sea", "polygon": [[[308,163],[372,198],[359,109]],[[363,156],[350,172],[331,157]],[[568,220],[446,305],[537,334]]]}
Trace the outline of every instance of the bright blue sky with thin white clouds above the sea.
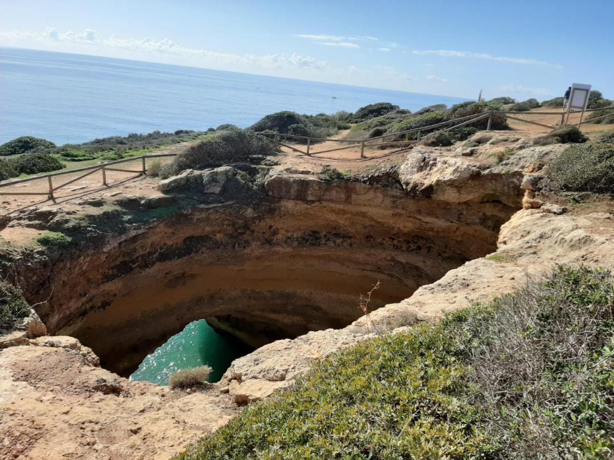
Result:
{"label": "bright blue sky with thin white clouds above the sea", "polygon": [[0,47],[473,99],[588,83],[614,99],[612,18],[614,0],[0,0]]}

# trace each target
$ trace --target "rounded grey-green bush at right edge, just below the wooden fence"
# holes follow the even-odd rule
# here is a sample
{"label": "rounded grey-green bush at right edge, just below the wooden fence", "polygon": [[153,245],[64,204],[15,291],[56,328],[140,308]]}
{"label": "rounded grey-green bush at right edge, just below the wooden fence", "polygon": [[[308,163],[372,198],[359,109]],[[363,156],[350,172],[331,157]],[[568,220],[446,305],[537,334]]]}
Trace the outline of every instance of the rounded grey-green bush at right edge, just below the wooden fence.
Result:
{"label": "rounded grey-green bush at right edge, just below the wooden fence", "polygon": [[574,145],[548,167],[551,190],[614,193],[614,144]]}

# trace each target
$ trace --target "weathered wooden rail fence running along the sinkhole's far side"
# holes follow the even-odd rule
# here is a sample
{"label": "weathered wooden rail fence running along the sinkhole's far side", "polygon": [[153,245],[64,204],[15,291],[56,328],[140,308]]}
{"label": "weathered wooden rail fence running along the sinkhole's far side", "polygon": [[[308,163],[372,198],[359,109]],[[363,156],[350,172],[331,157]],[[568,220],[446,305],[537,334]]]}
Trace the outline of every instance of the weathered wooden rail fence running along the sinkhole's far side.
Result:
{"label": "weathered wooden rail fence running along the sinkhole's far side", "polygon": [[[604,107],[602,109],[589,109],[589,110],[585,110],[585,112],[596,112],[598,110],[611,110],[611,109],[614,109],[614,106]],[[461,128],[461,126],[470,125],[471,123],[475,123],[475,121],[483,120],[484,118],[487,118],[487,117],[488,117],[488,125],[486,126],[486,129],[488,131],[491,130],[492,119],[495,116],[505,117],[505,118],[509,118],[510,120],[521,121],[523,123],[529,123],[530,125],[542,126],[543,128],[547,128],[547,129],[553,129],[553,126],[544,125],[543,123],[537,123],[537,121],[530,121],[530,120],[524,120],[523,118],[513,117],[512,115],[510,115],[510,113],[523,114],[523,115],[562,115],[561,122],[564,121],[564,117],[566,114],[566,112],[561,114],[561,112],[513,112],[513,111],[504,112],[502,110],[489,110],[488,112],[475,113],[474,115],[467,115],[467,117],[460,117],[460,118],[454,118],[453,120],[443,121],[435,125],[421,126],[420,128],[413,128],[413,129],[406,129],[405,131],[394,132],[392,134],[384,134],[383,136],[370,137],[369,139],[324,139],[322,137],[308,137],[308,136],[295,136],[293,134],[279,134],[278,132],[257,132],[257,134],[266,136],[267,138],[269,138],[270,136],[273,136],[273,141],[275,142],[276,145],[281,145],[282,147],[289,148],[290,150],[301,153],[302,155],[313,156],[313,155],[319,155],[321,153],[329,153],[332,151],[346,150],[352,147],[360,147],[360,158],[365,158],[365,146],[369,147],[373,145],[381,146],[381,145],[417,144],[419,140],[421,139],[421,137],[432,136],[433,134],[437,134],[437,132],[445,132],[451,129]],[[577,111],[577,112],[570,112],[570,113],[580,113],[580,112]],[[580,125],[583,125],[584,123],[587,123],[588,121],[599,120],[600,118],[608,117],[609,115],[610,114],[602,115],[600,117],[593,118],[592,120],[585,120],[585,121],[580,120],[580,123],[578,123],[578,128],[580,127]],[[447,126],[447,125],[452,125],[452,126],[443,128],[444,126]],[[433,131],[433,129],[438,129],[438,128],[443,128],[443,129],[439,129],[438,131]],[[422,132],[424,131],[429,131],[429,132],[425,136],[422,136]],[[415,140],[397,140],[397,141],[386,142],[386,139],[389,137],[402,136],[410,132],[416,133]],[[296,147],[296,145],[286,144],[285,142],[281,142],[281,140],[279,140],[279,139],[285,140],[286,138],[302,139],[302,140],[306,139],[306,150],[305,151],[300,150],[299,148]],[[311,142],[313,141],[348,142],[350,143],[350,145],[346,145],[345,147],[329,148],[328,150],[313,152],[311,151]],[[103,185],[108,185],[107,177],[106,177],[107,171],[134,172],[137,174],[136,177],[139,177],[139,175],[146,174],[147,172],[147,165],[146,165],[147,158],[163,158],[165,156],[176,156],[176,155],[177,153],[163,153],[160,155],[134,156],[133,158],[119,159],[117,161],[110,161],[109,163],[97,164],[96,166],[87,166],[87,167],[82,167],[78,169],[72,169],[71,171],[54,172],[52,174],[39,175],[36,177],[28,177],[26,179],[12,180],[10,182],[0,183],[0,188],[17,185],[17,184],[25,183],[25,182],[31,182],[33,180],[41,180],[41,179],[47,178],[47,181],[49,183],[49,191],[44,191],[44,192],[0,191],[0,195],[47,195],[50,198],[53,198],[54,192],[56,190],[59,190],[60,188],[63,188],[73,182],[77,182],[77,180],[87,177],[90,174],[94,174],[95,172],[101,171],[102,183]],[[135,161],[139,159],[142,162],[142,167],[138,171],[133,170],[133,169],[121,169],[121,168],[111,167],[111,166],[114,166],[115,164],[126,163],[128,161]],[[71,180],[61,183],[60,185],[53,186],[53,177],[58,177],[64,174],[74,174],[76,172],[84,172],[84,171],[87,171],[87,172],[85,172],[85,174],[80,175],[79,177],[72,178]]]}

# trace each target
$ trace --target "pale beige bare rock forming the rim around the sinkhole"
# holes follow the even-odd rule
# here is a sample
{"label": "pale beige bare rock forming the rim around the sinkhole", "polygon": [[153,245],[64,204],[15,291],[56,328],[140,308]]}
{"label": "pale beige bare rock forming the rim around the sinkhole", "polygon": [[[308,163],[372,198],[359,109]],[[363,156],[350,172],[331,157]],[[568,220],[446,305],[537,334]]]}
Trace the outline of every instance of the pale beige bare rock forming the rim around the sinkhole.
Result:
{"label": "pale beige bare rock forming the rim around the sinkhole", "polygon": [[[523,191],[535,188],[543,168],[565,146],[534,147],[529,137],[514,132],[478,133],[474,140],[478,147],[468,147],[469,142],[449,148],[418,146],[344,171],[354,176],[352,183],[391,188],[433,203],[460,207],[493,201],[518,209],[501,227],[491,254],[449,270],[411,296],[345,328],[313,331],[258,348],[235,360],[220,383],[190,393],[131,382],[101,369],[91,350],[71,337],[34,337],[42,333],[37,330],[0,340],[0,347],[6,347],[0,351],[0,453],[32,459],[168,458],[224,424],[245,404],[291,385],[315,360],[373,334],[402,331],[416,321],[436,320],[446,311],[510,292],[556,264],[614,269],[612,201],[574,207],[559,197],[538,194],[545,204],[521,209]],[[268,194],[290,204],[356,200],[362,185],[328,186],[314,174],[322,164],[284,157],[269,172]],[[45,213],[57,214],[58,207],[65,208],[63,212],[91,212],[136,194],[133,183],[138,183],[139,196],[165,199],[158,180],[141,178],[117,186],[115,195],[89,193],[44,207],[15,207],[0,237],[28,245],[34,232],[45,231],[32,224],[41,222]]]}

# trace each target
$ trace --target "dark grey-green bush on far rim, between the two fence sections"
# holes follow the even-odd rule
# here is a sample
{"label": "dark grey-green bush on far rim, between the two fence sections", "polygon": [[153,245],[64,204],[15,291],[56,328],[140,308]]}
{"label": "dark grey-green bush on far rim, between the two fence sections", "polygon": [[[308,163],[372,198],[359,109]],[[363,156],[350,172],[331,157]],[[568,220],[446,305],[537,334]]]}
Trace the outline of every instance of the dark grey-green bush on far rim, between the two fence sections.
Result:
{"label": "dark grey-green bush on far rim, between the two fence sections", "polygon": [[273,142],[249,129],[220,131],[177,155],[171,166],[163,166],[160,176],[179,174],[184,169],[203,169],[221,164],[247,161],[252,155],[271,155]]}

